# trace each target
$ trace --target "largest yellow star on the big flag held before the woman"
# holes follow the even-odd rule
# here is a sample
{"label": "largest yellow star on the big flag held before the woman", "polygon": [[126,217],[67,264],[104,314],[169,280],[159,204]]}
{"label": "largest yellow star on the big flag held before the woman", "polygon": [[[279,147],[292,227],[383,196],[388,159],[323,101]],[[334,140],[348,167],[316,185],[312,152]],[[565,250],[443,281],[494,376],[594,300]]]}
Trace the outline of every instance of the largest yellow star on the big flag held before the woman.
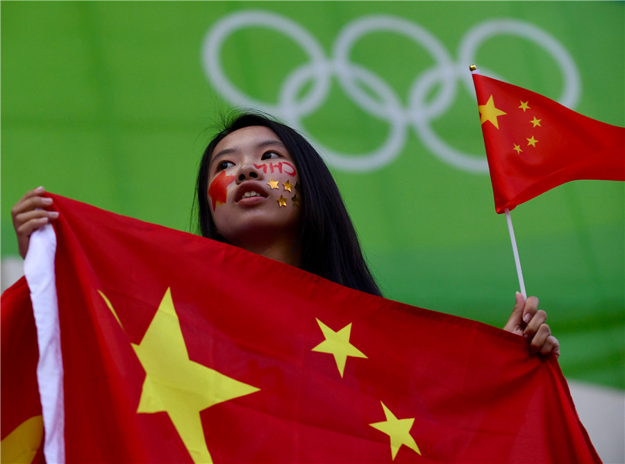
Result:
{"label": "largest yellow star on the big flag held before the woman", "polygon": [[140,345],[132,346],[146,372],[137,412],[167,413],[193,462],[212,463],[200,412],[260,389],[189,359],[169,288]]}

